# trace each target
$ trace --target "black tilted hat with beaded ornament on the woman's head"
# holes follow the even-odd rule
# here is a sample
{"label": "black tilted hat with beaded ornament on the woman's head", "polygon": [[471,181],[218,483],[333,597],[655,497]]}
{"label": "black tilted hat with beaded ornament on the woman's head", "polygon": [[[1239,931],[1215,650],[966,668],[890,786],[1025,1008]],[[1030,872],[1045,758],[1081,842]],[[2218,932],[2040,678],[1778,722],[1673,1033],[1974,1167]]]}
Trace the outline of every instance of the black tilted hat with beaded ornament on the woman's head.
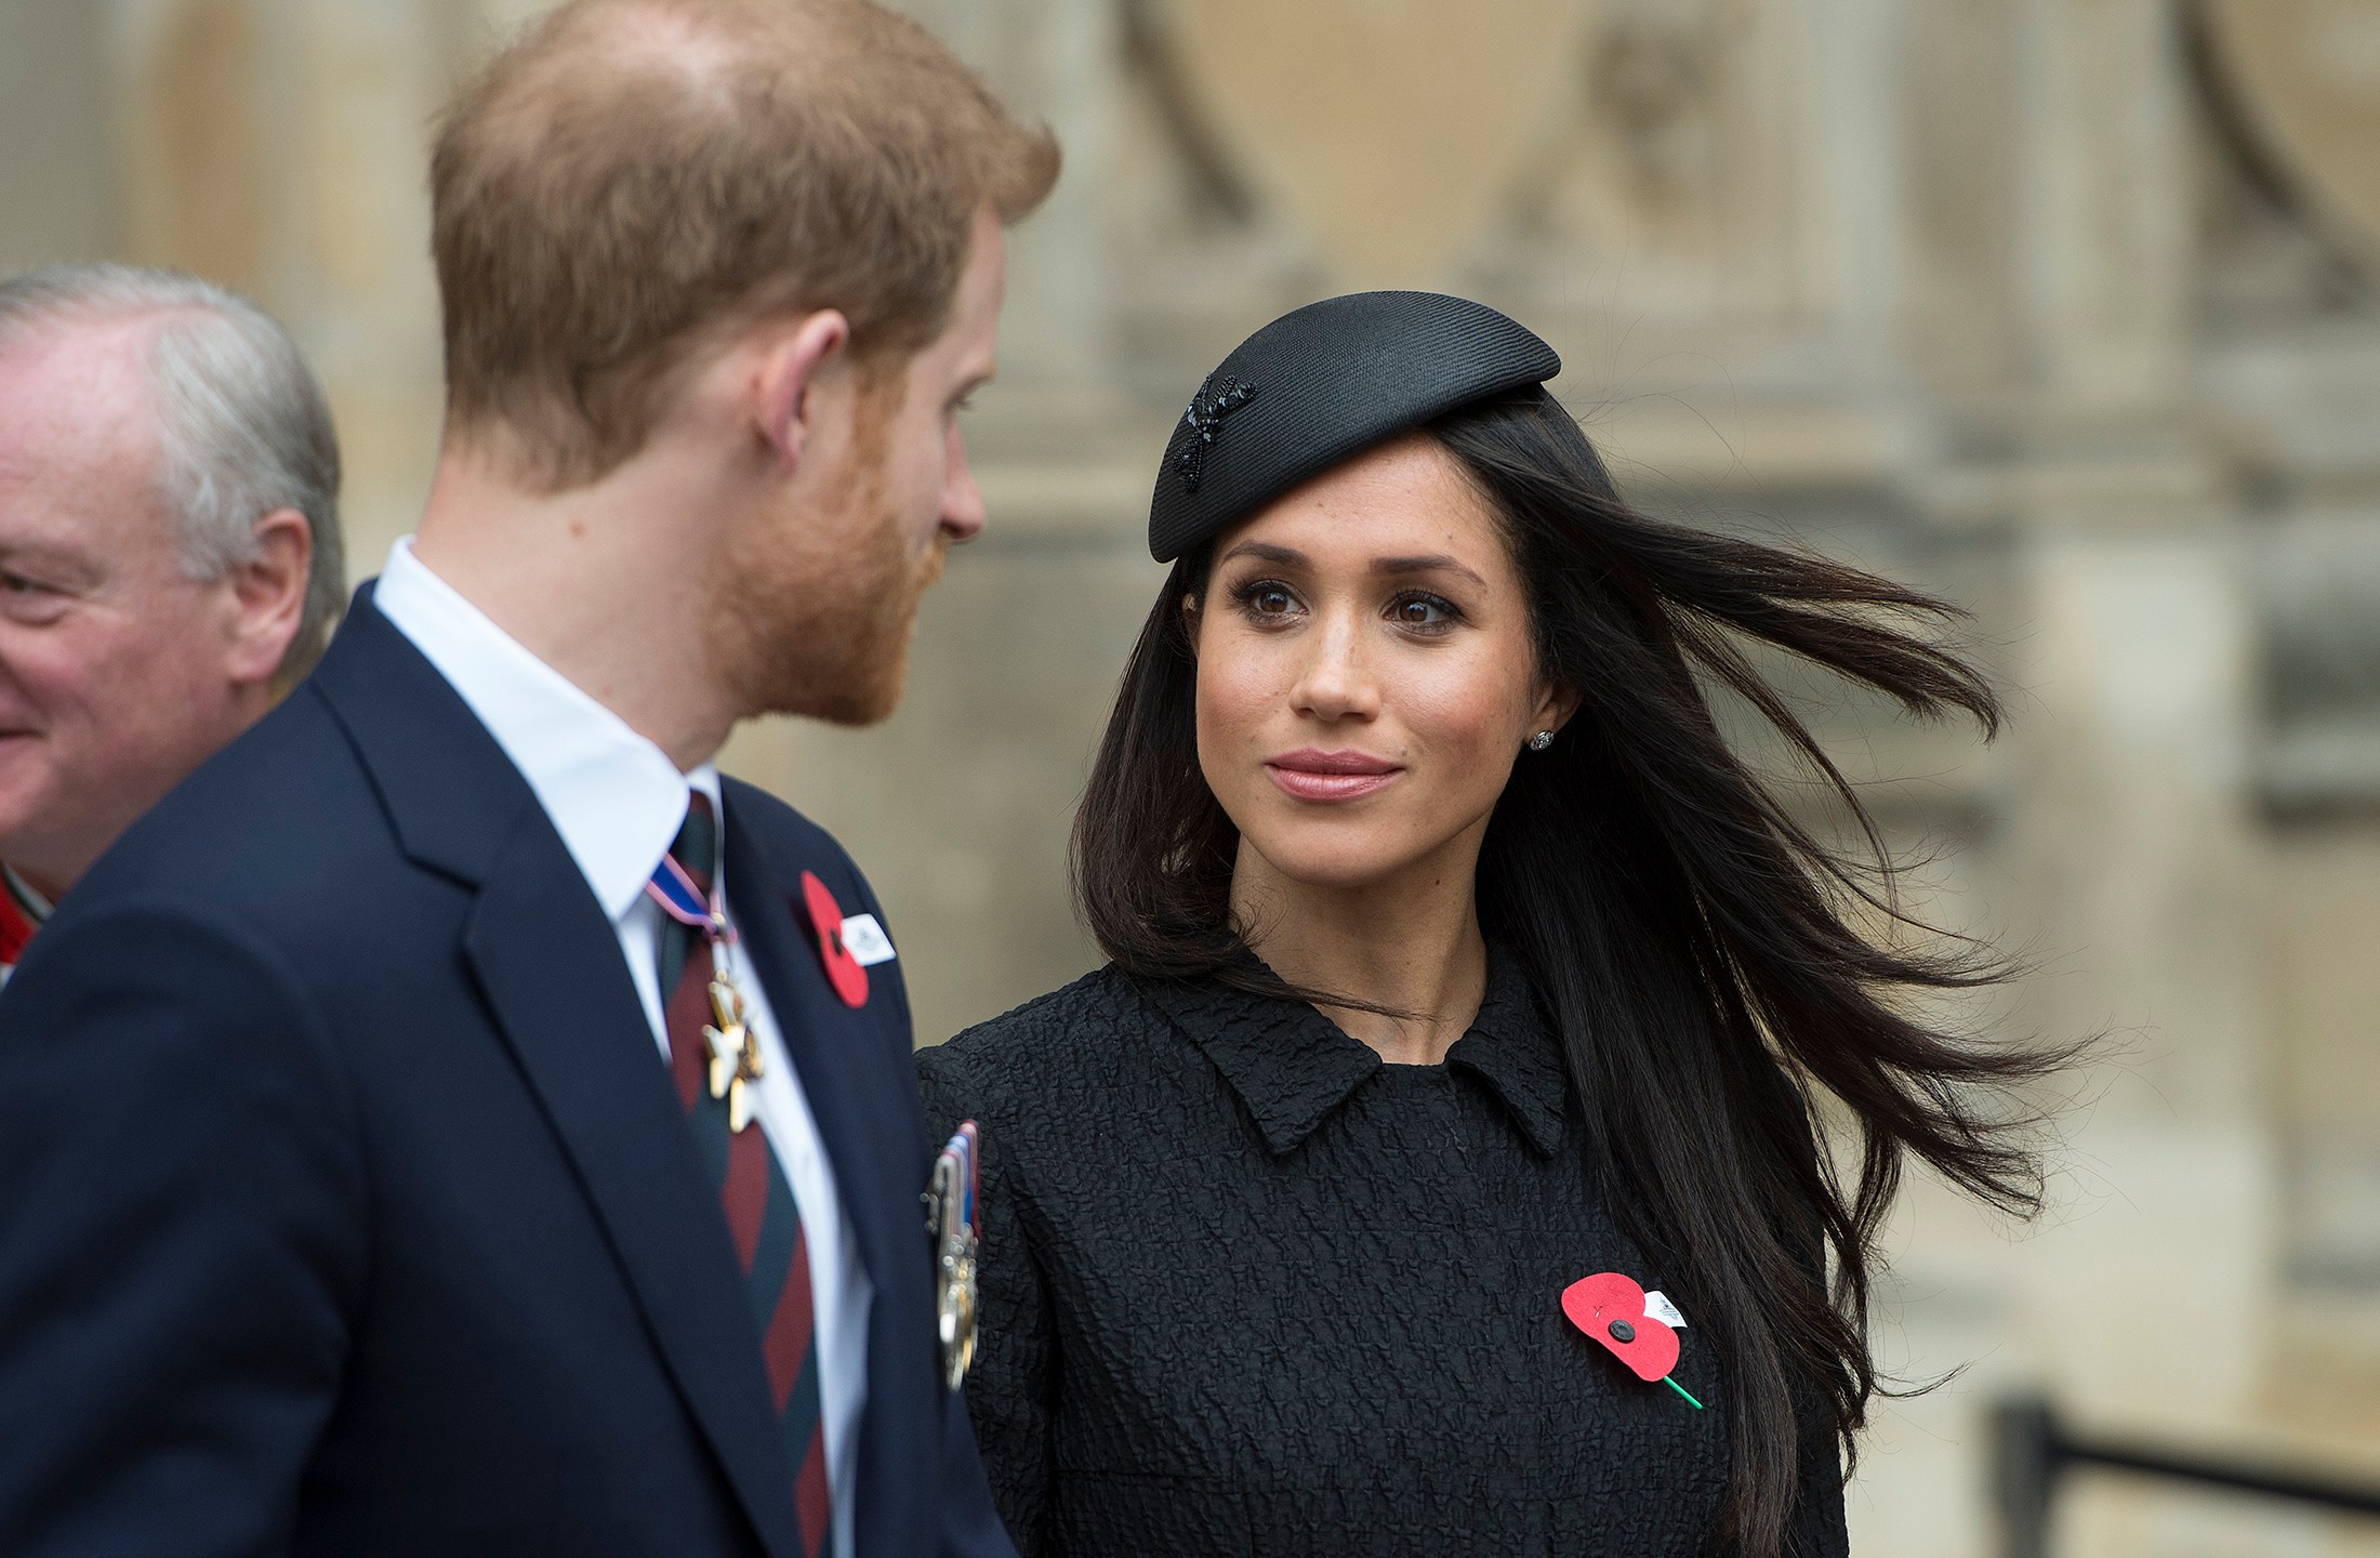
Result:
{"label": "black tilted hat with beaded ornament on the woman's head", "polygon": [[1242,340],[1183,412],[1150,500],[1150,554],[1169,564],[1407,428],[1559,371],[1554,347],[1466,297],[1309,302]]}

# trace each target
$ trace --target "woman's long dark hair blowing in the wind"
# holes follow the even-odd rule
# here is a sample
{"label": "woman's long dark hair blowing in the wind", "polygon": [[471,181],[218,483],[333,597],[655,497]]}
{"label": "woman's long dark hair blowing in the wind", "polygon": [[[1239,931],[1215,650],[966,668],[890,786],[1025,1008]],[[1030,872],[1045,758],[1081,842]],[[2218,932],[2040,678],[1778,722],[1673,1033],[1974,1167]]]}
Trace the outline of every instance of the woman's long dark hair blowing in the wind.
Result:
{"label": "woman's long dark hair blowing in the wind", "polygon": [[[2009,1085],[2066,1056],[1985,1047],[1911,997],[1990,985],[1987,947],[1940,937],[1892,892],[1880,835],[1818,740],[1747,657],[1756,640],[1890,695],[1914,716],[1999,699],[1921,628],[1954,607],[1823,557],[1630,509],[1542,388],[1428,426],[1499,516],[1542,671],[1583,695],[1514,766],[1478,861],[1478,911],[1561,1035],[1614,1211],[1692,1299],[1726,1358],[1726,1534],[1780,1551],[1802,1456],[1842,1453],[1878,1389],[1868,1268],[1916,1154],[2018,1213],[2040,1168]],[[1128,973],[1223,978],[1316,999],[1245,956],[1230,923],[1238,830],[1200,773],[1185,554],[1133,647],[1073,825],[1090,932]],[[1847,806],[1842,852],[1721,735],[1714,683],[1749,704]],[[1866,925],[1866,930],[1864,930]],[[1909,932],[1909,935],[1902,935]],[[1326,1004],[1357,1004],[1333,997]],[[1816,1099],[1856,1142],[1821,1146]],[[1833,1275],[1828,1275],[1833,1268]],[[1833,1456],[1828,1456],[1830,1460]]]}

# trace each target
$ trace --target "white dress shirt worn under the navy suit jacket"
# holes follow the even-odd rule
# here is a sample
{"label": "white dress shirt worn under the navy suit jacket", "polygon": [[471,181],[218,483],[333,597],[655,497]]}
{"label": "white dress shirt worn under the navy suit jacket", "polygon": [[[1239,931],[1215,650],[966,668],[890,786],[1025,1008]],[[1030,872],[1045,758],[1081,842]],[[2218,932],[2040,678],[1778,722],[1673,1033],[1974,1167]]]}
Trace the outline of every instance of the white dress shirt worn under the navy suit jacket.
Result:
{"label": "white dress shirt worn under the navy suit jacket", "polygon": [[[662,978],[654,966],[662,911],[645,894],[645,882],[678,837],[688,797],[700,790],[719,818],[716,885],[726,892],[726,809],[719,804],[719,768],[702,764],[693,773],[678,773],[666,752],[521,647],[414,559],[412,538],[390,547],[371,604],[438,666],[538,794],[555,833],[578,861],[588,890],[619,932],[619,951],[645,1001],[645,1020],[666,1068],[669,1028],[662,1018]],[[809,1244],[835,1553],[852,1558],[854,1437],[866,1403],[869,1306],[876,1289],[859,1265],[859,1246],[835,1192],[833,1163],[819,1144],[819,1125],[802,1094],[802,1080],[793,1075],[793,1061],[778,1042],[769,992],[740,944],[726,956],[745,997],[745,1025],[762,1047],[759,1123],[793,1187]]]}

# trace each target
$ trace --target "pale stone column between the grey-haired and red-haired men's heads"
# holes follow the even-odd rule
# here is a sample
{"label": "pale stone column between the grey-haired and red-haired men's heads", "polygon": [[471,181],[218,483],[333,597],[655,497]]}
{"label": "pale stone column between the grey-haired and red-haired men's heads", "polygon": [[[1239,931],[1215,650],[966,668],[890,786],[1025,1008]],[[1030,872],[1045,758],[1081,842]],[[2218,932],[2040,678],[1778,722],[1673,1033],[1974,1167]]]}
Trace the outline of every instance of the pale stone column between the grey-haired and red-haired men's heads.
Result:
{"label": "pale stone column between the grey-haired and red-haired men's heads", "polygon": [[450,0],[112,0],[129,255],[250,293],[338,416],[355,573],[414,526],[438,447],[428,121]]}

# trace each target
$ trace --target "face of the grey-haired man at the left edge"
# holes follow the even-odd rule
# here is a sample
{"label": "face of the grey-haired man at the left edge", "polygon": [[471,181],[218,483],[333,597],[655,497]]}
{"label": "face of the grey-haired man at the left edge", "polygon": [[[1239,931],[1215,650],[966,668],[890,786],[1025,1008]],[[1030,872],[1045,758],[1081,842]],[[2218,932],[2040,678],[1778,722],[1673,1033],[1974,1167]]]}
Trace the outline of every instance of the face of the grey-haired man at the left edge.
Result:
{"label": "face of the grey-haired man at the left edge", "polygon": [[157,495],[143,321],[0,347],[0,861],[57,894],[252,718]]}

